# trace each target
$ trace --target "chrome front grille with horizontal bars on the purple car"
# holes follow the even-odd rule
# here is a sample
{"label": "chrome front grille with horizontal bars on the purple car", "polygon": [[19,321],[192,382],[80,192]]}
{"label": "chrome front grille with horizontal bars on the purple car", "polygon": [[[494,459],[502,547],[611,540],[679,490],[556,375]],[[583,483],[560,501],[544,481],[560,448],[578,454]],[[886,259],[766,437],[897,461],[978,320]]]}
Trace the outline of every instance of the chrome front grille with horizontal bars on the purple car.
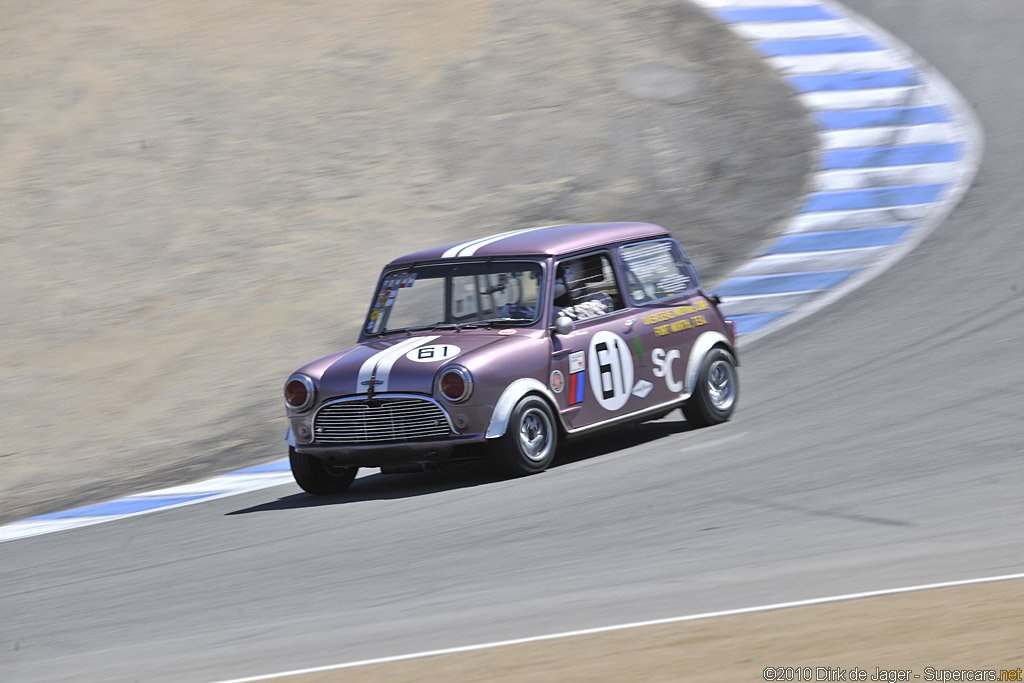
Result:
{"label": "chrome front grille with horizontal bars on the purple car", "polygon": [[416,396],[335,400],[313,418],[313,440],[318,443],[410,441],[450,434],[452,426],[441,407]]}

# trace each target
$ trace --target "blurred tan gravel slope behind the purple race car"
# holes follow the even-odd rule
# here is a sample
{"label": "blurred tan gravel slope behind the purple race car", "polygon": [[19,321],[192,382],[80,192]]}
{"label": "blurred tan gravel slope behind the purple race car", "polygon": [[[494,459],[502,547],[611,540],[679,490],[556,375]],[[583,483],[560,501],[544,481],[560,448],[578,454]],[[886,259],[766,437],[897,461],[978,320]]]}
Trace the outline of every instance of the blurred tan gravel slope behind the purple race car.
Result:
{"label": "blurred tan gravel slope behind the purple race car", "polygon": [[811,164],[678,0],[3,8],[0,522],[281,457],[283,378],[393,256],[647,220],[714,282]]}

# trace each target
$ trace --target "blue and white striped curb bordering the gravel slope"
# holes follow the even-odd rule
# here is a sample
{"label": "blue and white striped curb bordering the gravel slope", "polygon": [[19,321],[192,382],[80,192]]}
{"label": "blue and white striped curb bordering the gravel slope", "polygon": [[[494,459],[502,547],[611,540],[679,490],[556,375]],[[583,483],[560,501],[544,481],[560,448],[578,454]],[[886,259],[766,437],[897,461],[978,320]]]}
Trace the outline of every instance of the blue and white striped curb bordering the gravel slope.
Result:
{"label": "blue and white striped curb bordering the gravel slope", "polygon": [[[716,290],[746,344],[860,287],[924,240],[971,184],[981,128],[941,74],[831,0],[692,2],[751,41],[818,129],[817,170],[797,215]],[[0,526],[0,543],[292,481],[282,460],[12,522]]]}

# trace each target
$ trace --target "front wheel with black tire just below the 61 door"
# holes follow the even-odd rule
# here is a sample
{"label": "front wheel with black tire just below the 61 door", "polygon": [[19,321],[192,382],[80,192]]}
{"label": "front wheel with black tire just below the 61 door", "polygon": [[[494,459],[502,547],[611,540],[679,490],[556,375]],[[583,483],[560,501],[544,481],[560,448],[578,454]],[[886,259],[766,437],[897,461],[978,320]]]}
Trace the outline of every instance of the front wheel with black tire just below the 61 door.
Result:
{"label": "front wheel with black tire just below the 61 door", "polygon": [[548,401],[526,396],[516,403],[505,435],[489,445],[502,474],[525,476],[548,469],[558,450],[558,426]]}

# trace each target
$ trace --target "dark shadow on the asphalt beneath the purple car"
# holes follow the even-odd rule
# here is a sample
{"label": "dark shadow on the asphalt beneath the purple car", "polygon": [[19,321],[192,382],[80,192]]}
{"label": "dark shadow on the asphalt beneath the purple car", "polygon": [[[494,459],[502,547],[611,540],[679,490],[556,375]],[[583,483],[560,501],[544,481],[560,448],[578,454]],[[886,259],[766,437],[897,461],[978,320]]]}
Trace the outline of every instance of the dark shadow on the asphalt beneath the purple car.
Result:
{"label": "dark shadow on the asphalt beneath the purple car", "polygon": [[[558,468],[565,465],[599,458],[626,449],[646,445],[676,434],[692,431],[692,429],[684,420],[670,418],[625,429],[609,430],[594,436],[563,443],[559,447],[558,456],[548,472],[557,472]],[[543,477],[544,473],[523,477],[518,480],[528,481],[538,476]],[[486,462],[470,461],[453,464],[451,467],[437,472],[371,474],[370,476],[356,479],[347,490],[341,494],[331,496],[310,496],[304,493],[293,494],[280,498],[276,501],[261,503],[260,505],[234,510],[226,514],[242,515],[252,512],[315,508],[323,505],[349,505],[367,501],[395,500],[507,481],[510,480],[492,472]]]}

